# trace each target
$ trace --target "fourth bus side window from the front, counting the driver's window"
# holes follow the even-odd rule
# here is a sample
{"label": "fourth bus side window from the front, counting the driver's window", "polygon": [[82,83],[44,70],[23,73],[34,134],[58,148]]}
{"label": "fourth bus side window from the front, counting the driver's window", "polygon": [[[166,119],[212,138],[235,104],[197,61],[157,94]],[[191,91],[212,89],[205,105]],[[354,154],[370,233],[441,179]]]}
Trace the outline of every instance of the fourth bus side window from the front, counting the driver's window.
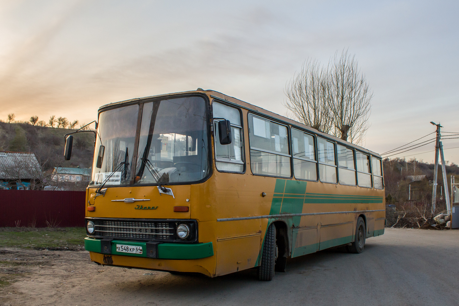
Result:
{"label": "fourth bus side window from the front, counting the driver's window", "polygon": [[320,181],[336,184],[335,144],[317,137],[317,155]]}

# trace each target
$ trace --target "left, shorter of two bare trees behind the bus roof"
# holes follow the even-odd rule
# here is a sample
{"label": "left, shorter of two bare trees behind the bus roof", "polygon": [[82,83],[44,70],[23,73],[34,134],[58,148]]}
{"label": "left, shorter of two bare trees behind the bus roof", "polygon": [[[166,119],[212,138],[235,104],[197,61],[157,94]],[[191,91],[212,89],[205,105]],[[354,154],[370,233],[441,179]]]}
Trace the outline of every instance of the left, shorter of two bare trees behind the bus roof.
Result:
{"label": "left, shorter of two bare trees behind the bus roof", "polygon": [[295,119],[311,128],[328,133],[332,127],[329,114],[328,72],[317,61],[306,61],[301,72],[287,85],[284,106]]}

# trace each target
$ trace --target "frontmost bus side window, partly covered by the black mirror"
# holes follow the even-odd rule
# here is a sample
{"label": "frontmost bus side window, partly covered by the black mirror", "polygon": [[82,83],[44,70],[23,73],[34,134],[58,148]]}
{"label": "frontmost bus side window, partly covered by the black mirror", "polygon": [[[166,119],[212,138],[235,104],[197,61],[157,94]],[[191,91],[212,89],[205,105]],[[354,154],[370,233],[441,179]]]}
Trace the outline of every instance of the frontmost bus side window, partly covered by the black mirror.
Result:
{"label": "frontmost bus side window, partly covered by the black mirror", "polygon": [[244,172],[244,150],[241,126],[241,113],[238,109],[224,104],[213,102],[213,117],[225,118],[231,124],[231,144],[221,145],[218,135],[218,119],[214,120],[213,128],[215,132],[215,166],[219,171]]}

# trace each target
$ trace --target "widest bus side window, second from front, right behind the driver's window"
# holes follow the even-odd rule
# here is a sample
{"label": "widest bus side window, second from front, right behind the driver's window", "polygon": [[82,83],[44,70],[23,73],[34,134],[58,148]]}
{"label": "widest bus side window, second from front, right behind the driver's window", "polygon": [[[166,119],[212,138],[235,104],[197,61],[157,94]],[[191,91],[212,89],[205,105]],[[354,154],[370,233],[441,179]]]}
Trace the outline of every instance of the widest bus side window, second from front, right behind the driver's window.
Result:
{"label": "widest bus side window, second from front, right behind the driver's window", "polygon": [[291,177],[287,127],[252,114],[248,118],[252,173]]}

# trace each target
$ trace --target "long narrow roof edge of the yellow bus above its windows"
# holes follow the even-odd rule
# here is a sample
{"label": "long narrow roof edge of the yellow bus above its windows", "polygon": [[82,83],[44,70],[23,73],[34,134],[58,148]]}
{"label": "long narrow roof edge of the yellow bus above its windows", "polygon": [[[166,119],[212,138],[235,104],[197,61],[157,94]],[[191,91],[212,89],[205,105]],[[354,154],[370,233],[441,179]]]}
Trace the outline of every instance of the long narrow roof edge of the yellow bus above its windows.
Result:
{"label": "long narrow roof edge of the yellow bus above its windows", "polygon": [[159,98],[159,97],[171,97],[171,96],[174,96],[174,95],[186,95],[186,94],[207,94],[207,95],[210,95],[211,98],[214,98],[214,99],[217,99],[217,100],[222,100],[224,102],[227,102],[227,103],[234,104],[236,106],[245,108],[247,110],[254,111],[254,112],[257,112],[259,114],[271,117],[273,119],[277,119],[277,120],[286,122],[286,123],[288,123],[288,124],[290,124],[292,126],[296,126],[298,128],[302,128],[302,129],[308,130],[308,131],[310,131],[310,132],[312,132],[314,134],[317,134],[317,135],[319,135],[321,137],[331,139],[333,141],[342,143],[343,145],[347,145],[349,147],[353,147],[353,148],[358,149],[360,151],[363,151],[363,152],[366,152],[366,153],[369,153],[371,155],[374,155],[374,156],[377,156],[377,157],[381,158],[381,156],[378,153],[375,153],[373,151],[367,150],[367,149],[365,149],[365,148],[363,148],[361,146],[354,145],[354,144],[352,144],[350,142],[347,142],[345,140],[339,139],[339,138],[337,138],[337,137],[335,137],[333,135],[326,134],[326,133],[323,133],[323,132],[320,132],[320,131],[316,130],[315,128],[308,127],[307,125],[304,125],[303,123],[300,123],[300,122],[297,122],[295,120],[289,119],[287,117],[281,116],[279,114],[273,113],[272,111],[265,110],[262,107],[255,106],[255,105],[252,105],[250,103],[244,102],[244,101],[239,100],[239,99],[237,99],[235,97],[231,97],[229,95],[224,95],[224,94],[222,94],[222,93],[220,93],[218,91],[214,91],[214,90],[191,90],[191,91],[182,91],[182,92],[176,92],[176,93],[170,93],[170,94],[164,94],[164,95],[153,95],[153,96],[142,97],[142,98],[134,98],[134,99],[130,99],[130,100],[114,102],[114,103],[110,103],[110,104],[106,104],[104,106],[101,106],[99,108],[99,113],[101,111],[105,111],[106,109],[116,108],[117,106],[136,104],[141,100],[149,100],[149,99],[154,99],[154,98]]}

